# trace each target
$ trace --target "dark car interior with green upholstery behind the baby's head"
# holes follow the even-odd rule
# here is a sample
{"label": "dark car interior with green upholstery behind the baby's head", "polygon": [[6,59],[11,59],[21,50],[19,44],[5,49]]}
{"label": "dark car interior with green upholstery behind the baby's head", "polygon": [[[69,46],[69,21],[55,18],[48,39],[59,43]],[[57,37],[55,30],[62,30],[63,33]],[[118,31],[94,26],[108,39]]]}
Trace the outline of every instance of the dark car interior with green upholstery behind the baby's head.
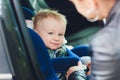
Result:
{"label": "dark car interior with green upholstery behind the baby's head", "polygon": [[[77,12],[69,0],[20,0],[26,19],[31,20],[41,9],[55,9],[66,16],[68,24],[65,33],[67,45],[73,47],[88,45],[91,37],[103,26],[103,21],[89,22]],[[26,4],[27,3],[27,4]],[[34,13],[34,14],[33,14]]]}

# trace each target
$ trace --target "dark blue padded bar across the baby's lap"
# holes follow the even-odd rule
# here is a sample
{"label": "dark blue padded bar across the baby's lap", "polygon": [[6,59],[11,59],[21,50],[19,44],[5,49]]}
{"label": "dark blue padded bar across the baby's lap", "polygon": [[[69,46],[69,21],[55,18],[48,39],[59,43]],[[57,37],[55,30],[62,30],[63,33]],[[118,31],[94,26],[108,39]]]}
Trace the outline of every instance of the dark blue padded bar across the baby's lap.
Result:
{"label": "dark blue padded bar across the baby's lap", "polygon": [[71,66],[77,65],[79,59],[77,57],[64,57],[64,58],[54,58],[52,59],[52,65],[55,72],[66,72]]}

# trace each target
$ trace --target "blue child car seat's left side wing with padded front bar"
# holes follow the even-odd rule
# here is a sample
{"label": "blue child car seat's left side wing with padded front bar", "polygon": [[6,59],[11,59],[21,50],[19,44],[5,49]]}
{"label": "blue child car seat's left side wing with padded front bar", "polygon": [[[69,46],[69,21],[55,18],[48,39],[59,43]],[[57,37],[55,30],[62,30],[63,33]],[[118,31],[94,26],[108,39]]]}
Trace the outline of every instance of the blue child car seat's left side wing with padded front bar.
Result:
{"label": "blue child car seat's left side wing with padded front bar", "polygon": [[69,49],[67,49],[67,52],[69,53],[68,57],[51,59],[41,37],[30,28],[28,28],[28,31],[45,80],[58,80],[55,74],[56,72],[63,72],[69,69],[69,67],[77,65],[80,58]]}

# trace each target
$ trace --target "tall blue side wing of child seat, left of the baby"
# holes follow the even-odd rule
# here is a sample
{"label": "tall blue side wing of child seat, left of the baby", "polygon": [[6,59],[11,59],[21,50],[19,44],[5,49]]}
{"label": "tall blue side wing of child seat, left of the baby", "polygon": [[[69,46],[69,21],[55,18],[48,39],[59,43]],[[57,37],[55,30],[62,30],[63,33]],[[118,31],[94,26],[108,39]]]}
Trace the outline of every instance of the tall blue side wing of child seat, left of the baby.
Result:
{"label": "tall blue side wing of child seat, left of the baby", "polygon": [[31,39],[33,42],[33,46],[34,46],[34,49],[36,52],[36,56],[38,59],[38,63],[39,63],[40,69],[43,73],[45,80],[58,80],[58,78],[53,70],[53,67],[51,65],[51,60],[50,60],[49,54],[47,52],[47,49],[46,49],[42,39],[32,29],[28,28],[28,31],[30,33],[30,36],[31,36]]}

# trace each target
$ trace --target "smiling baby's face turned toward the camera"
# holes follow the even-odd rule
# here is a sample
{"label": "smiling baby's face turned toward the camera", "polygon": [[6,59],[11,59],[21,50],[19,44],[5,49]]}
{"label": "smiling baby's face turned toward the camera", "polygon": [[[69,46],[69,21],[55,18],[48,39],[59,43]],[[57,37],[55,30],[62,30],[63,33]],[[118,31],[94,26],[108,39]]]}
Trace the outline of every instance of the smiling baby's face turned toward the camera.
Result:
{"label": "smiling baby's face turned toward the camera", "polygon": [[65,30],[66,25],[52,17],[41,20],[36,29],[46,47],[52,50],[62,46]]}

